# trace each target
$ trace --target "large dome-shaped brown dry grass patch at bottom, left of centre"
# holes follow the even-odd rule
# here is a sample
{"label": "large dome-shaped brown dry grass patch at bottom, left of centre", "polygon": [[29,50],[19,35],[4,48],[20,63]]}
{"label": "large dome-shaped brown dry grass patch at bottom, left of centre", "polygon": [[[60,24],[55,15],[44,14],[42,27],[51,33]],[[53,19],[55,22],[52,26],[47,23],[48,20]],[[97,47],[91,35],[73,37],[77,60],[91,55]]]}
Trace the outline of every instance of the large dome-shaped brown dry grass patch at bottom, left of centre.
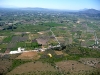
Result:
{"label": "large dome-shaped brown dry grass patch at bottom, left of centre", "polygon": [[48,63],[42,63],[42,62],[29,62],[25,63],[21,66],[16,67],[14,70],[9,72],[7,75],[13,75],[13,74],[27,74],[29,72],[45,72],[45,71],[57,71],[54,67],[52,67]]}

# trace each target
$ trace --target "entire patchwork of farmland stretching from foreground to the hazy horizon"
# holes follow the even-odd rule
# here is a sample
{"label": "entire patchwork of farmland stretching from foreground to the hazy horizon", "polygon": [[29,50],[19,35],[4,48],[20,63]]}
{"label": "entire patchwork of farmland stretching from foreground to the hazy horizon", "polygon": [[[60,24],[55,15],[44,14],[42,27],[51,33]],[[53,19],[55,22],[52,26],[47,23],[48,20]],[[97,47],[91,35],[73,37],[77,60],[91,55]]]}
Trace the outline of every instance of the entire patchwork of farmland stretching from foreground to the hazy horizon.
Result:
{"label": "entire patchwork of farmland stretching from foreground to the hazy horizon", "polygon": [[[0,14],[0,75],[100,75],[99,14],[21,9]],[[25,52],[9,54],[19,47]]]}

